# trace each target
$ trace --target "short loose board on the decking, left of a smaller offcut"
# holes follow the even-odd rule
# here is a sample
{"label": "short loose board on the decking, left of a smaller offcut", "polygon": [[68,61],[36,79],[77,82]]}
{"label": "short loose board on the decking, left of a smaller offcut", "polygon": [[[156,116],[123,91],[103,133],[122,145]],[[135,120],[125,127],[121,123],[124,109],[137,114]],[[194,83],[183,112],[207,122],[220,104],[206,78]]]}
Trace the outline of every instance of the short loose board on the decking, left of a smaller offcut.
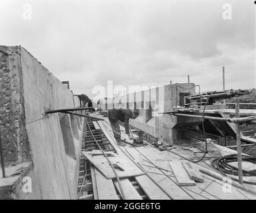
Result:
{"label": "short loose board on the decking, left of a smaller offcut", "polygon": [[195,186],[195,181],[189,178],[181,162],[175,161],[169,162],[169,164],[171,166],[171,169],[173,170],[173,173],[179,186]]}

